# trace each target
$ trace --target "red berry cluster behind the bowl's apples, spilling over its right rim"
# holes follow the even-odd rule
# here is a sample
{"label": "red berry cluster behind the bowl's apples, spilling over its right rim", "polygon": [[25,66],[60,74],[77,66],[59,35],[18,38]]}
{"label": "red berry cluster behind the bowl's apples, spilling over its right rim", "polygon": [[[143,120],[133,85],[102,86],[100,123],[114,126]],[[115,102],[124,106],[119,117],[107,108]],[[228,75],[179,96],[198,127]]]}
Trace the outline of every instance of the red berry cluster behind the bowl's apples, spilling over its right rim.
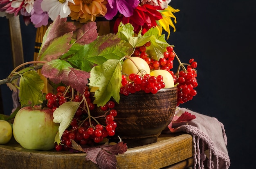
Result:
{"label": "red berry cluster behind the bowl's apples, spilling over its right rim", "polygon": [[[197,67],[197,62],[194,61],[194,59],[190,59],[189,64],[182,63],[175,54],[173,46],[166,47],[166,51],[163,53],[163,58],[154,60],[148,53],[146,53],[146,49],[150,45],[150,42],[147,42],[143,46],[136,47],[132,56],[141,57],[144,59],[148,63],[151,71],[162,69],[171,73],[174,84],[178,88],[177,105],[186,103],[187,101],[193,99],[193,97],[197,94],[195,88],[198,86],[196,79],[197,72],[195,70]],[[180,64],[176,73],[174,73],[172,70],[173,60],[175,58],[177,58]]]}

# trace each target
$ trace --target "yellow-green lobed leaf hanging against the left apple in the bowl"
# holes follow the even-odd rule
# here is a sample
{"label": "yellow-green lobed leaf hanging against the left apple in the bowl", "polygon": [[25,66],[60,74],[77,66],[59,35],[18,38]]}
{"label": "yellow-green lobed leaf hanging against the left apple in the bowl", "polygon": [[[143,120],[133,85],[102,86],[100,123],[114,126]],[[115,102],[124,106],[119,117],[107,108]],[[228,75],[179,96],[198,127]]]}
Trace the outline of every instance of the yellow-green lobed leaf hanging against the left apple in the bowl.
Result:
{"label": "yellow-green lobed leaf hanging against the left apple in the bowl", "polygon": [[94,66],[89,79],[90,86],[99,87],[95,91],[94,104],[98,106],[105,105],[111,97],[119,103],[121,88],[121,60],[110,59],[104,64]]}

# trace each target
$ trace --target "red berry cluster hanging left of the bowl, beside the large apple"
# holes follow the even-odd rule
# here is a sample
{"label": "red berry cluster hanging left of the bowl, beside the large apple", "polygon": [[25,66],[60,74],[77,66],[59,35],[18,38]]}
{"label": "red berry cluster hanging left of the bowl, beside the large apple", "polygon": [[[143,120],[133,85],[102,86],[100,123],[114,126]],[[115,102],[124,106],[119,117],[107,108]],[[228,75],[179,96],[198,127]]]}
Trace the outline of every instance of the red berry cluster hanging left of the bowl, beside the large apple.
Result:
{"label": "red berry cluster hanging left of the bowl, beside the large apple", "polygon": [[[108,101],[106,105],[101,106],[102,116],[93,117],[88,114],[88,109],[94,110],[96,105],[92,103],[92,97],[87,87],[83,95],[74,94],[72,89],[66,89],[65,86],[57,88],[57,94],[47,93],[45,98],[47,100],[47,107],[56,110],[60,105],[67,101],[81,102],[79,108],[74,114],[74,118],[70,126],[64,131],[61,137],[61,144],[56,144],[57,151],[69,150],[72,147],[71,139],[80,145],[94,145],[103,141],[103,138],[115,135],[117,123],[114,121],[117,116],[115,110],[115,102]],[[85,98],[83,101],[83,97]],[[86,102],[86,103],[85,103]],[[88,109],[87,109],[88,107]],[[97,118],[104,117],[106,125],[101,125]]]}

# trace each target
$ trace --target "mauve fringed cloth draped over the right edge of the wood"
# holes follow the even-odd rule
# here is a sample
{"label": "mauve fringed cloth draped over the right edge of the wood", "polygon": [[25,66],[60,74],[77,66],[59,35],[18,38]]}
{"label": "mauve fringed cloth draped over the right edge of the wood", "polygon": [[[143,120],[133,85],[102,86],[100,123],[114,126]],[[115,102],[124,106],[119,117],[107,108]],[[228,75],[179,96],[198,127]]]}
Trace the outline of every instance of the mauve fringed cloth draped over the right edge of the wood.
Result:
{"label": "mauve fringed cloth draped over the right edge of the wood", "polygon": [[177,107],[175,119],[189,112],[196,118],[168,125],[171,133],[186,132],[193,136],[194,169],[228,169],[230,159],[224,125],[216,118]]}

